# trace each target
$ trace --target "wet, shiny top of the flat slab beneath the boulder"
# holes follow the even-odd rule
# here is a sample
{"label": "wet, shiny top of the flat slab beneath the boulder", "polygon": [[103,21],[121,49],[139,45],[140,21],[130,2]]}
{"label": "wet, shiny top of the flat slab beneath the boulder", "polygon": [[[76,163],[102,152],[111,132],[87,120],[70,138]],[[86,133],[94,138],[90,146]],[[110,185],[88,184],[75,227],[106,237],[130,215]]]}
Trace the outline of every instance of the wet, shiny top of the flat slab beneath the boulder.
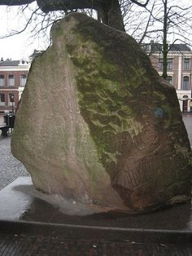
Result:
{"label": "wet, shiny top of the flat slab beneath the boulder", "polygon": [[192,231],[190,203],[175,205],[151,214],[104,212],[80,216],[82,205],[37,192],[29,177],[15,179],[0,191],[0,219],[41,223],[75,224],[93,227],[139,228]]}

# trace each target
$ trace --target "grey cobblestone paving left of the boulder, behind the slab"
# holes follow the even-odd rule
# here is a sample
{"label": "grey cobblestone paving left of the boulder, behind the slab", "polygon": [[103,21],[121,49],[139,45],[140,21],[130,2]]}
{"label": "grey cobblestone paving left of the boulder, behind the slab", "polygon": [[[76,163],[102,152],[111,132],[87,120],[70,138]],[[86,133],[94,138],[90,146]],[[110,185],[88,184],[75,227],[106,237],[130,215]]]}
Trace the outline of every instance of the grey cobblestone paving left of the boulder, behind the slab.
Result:
{"label": "grey cobblestone paving left of the boulder, behind the slab", "polygon": [[24,166],[11,154],[11,136],[0,135],[0,189],[20,176],[29,176]]}

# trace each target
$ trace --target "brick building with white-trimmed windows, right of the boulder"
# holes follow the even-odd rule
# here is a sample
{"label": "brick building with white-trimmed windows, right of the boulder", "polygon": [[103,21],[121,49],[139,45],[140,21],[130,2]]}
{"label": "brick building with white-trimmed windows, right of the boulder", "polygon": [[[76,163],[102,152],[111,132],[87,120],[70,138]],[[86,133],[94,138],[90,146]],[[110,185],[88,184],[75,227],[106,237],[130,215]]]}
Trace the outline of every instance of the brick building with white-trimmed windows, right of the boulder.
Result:
{"label": "brick building with white-trimmed windows, right of the boulder", "polygon": [[[163,73],[162,45],[143,45],[143,49],[150,55],[151,64],[158,71]],[[177,90],[177,98],[182,112],[192,112],[192,51],[185,44],[170,46],[168,51],[168,77],[167,80]]]}

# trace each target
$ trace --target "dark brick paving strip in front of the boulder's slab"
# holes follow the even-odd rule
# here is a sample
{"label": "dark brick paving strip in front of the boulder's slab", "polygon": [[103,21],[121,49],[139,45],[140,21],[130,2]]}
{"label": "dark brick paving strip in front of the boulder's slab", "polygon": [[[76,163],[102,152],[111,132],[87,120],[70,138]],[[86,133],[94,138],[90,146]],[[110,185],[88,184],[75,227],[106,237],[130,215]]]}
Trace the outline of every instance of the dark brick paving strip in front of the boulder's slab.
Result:
{"label": "dark brick paving strip in front of the boulder's slab", "polygon": [[10,256],[191,256],[188,245],[68,240],[62,236],[0,234],[0,255]]}

